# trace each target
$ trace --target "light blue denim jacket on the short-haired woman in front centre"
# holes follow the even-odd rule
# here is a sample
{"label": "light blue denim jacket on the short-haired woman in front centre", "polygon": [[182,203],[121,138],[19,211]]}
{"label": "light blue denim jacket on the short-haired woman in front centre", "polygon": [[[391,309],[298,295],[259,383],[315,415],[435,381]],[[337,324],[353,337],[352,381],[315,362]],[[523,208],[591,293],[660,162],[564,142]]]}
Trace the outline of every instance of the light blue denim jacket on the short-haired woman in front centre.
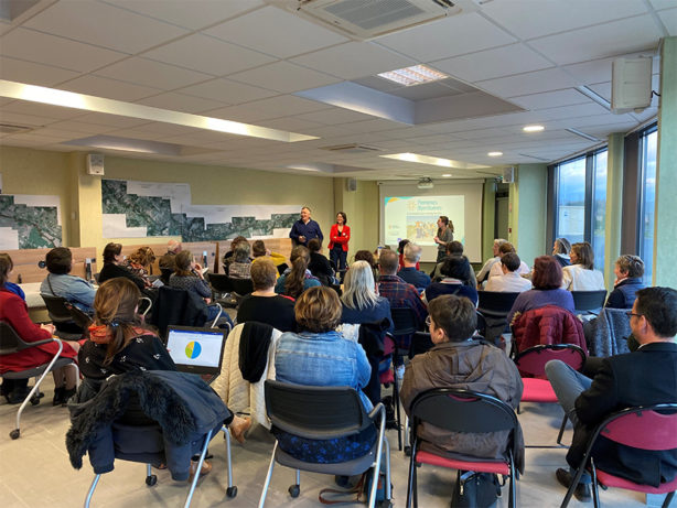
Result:
{"label": "light blue denim jacket on the short-haired woman in front centre", "polygon": [[373,409],[361,390],[372,374],[367,355],[338,332],[283,333],[276,348],[275,369],[276,379],[282,382],[354,388],[365,410]]}

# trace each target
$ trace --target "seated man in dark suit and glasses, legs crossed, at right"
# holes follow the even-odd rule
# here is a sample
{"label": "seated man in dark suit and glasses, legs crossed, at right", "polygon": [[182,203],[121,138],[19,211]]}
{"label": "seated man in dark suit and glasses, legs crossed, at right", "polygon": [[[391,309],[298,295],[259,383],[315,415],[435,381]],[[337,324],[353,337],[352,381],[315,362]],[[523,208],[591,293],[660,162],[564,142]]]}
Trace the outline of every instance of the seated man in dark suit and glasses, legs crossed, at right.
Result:
{"label": "seated man in dark suit and glasses, legs crossed, at right", "polygon": [[[546,374],[559,403],[573,423],[573,441],[557,479],[569,487],[594,428],[611,413],[634,406],[677,402],[677,291],[646,288],[637,291],[628,312],[638,347],[602,360],[594,379],[559,360],[548,361]],[[631,482],[658,486],[677,476],[677,450],[648,452],[599,437],[592,456],[595,465]],[[590,500],[590,477],[583,474],[576,488],[580,501]]]}

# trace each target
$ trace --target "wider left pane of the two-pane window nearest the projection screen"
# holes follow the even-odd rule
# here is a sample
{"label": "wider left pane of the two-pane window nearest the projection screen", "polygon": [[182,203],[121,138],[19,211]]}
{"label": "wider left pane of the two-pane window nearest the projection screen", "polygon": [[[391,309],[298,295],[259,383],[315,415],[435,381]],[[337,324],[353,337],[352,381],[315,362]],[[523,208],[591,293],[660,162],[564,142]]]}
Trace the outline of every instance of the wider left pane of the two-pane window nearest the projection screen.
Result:
{"label": "wider left pane of the two-pane window nearest the projection screen", "polygon": [[562,162],[558,166],[556,238],[571,244],[585,235],[585,158]]}

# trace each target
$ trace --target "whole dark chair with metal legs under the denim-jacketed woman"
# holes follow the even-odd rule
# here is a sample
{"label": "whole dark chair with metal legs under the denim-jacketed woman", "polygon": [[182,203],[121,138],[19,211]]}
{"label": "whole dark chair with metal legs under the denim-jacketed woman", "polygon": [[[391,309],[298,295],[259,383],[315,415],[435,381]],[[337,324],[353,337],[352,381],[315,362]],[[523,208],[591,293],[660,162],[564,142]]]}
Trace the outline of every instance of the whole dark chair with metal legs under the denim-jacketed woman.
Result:
{"label": "whole dark chair with metal legs under the denim-jacketed woman", "polygon": [[331,440],[357,434],[369,425],[376,424],[378,434],[372,450],[366,455],[336,464],[300,461],[280,450],[276,441],[259,500],[259,508],[262,508],[266,502],[266,495],[276,462],[297,469],[295,483],[289,487],[291,497],[299,496],[301,471],[353,476],[373,468],[374,480],[372,482],[367,506],[374,508],[384,447],[386,451],[385,497],[386,502],[390,501],[390,447],[385,434],[386,412],[383,404],[377,404],[367,414],[362,406],[359,394],[348,387],[304,387],[271,380],[266,381],[265,387],[268,418],[272,425],[280,431],[310,440]]}

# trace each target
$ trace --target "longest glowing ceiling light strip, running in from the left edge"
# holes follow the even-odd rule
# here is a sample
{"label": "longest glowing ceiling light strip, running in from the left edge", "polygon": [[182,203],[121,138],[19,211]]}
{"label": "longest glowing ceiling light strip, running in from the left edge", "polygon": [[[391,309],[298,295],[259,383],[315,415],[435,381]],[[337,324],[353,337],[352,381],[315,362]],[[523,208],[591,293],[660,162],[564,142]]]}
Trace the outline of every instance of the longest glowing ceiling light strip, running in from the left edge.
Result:
{"label": "longest glowing ceiling light strip, running in from the left edge", "polygon": [[206,129],[227,134],[262,138],[287,143],[318,139],[315,136],[298,134],[267,127],[240,123],[238,121],[221,118],[203,117],[187,112],[171,111],[169,109],[152,108],[139,104],[123,102],[121,100],[104,99],[93,95],[75,94],[73,91],[45,88],[43,86],[25,85],[23,83],[0,79],[0,97],[28,100],[30,102],[49,104],[64,108],[83,109],[85,111],[103,112],[129,118],[173,123],[175,126]]}

